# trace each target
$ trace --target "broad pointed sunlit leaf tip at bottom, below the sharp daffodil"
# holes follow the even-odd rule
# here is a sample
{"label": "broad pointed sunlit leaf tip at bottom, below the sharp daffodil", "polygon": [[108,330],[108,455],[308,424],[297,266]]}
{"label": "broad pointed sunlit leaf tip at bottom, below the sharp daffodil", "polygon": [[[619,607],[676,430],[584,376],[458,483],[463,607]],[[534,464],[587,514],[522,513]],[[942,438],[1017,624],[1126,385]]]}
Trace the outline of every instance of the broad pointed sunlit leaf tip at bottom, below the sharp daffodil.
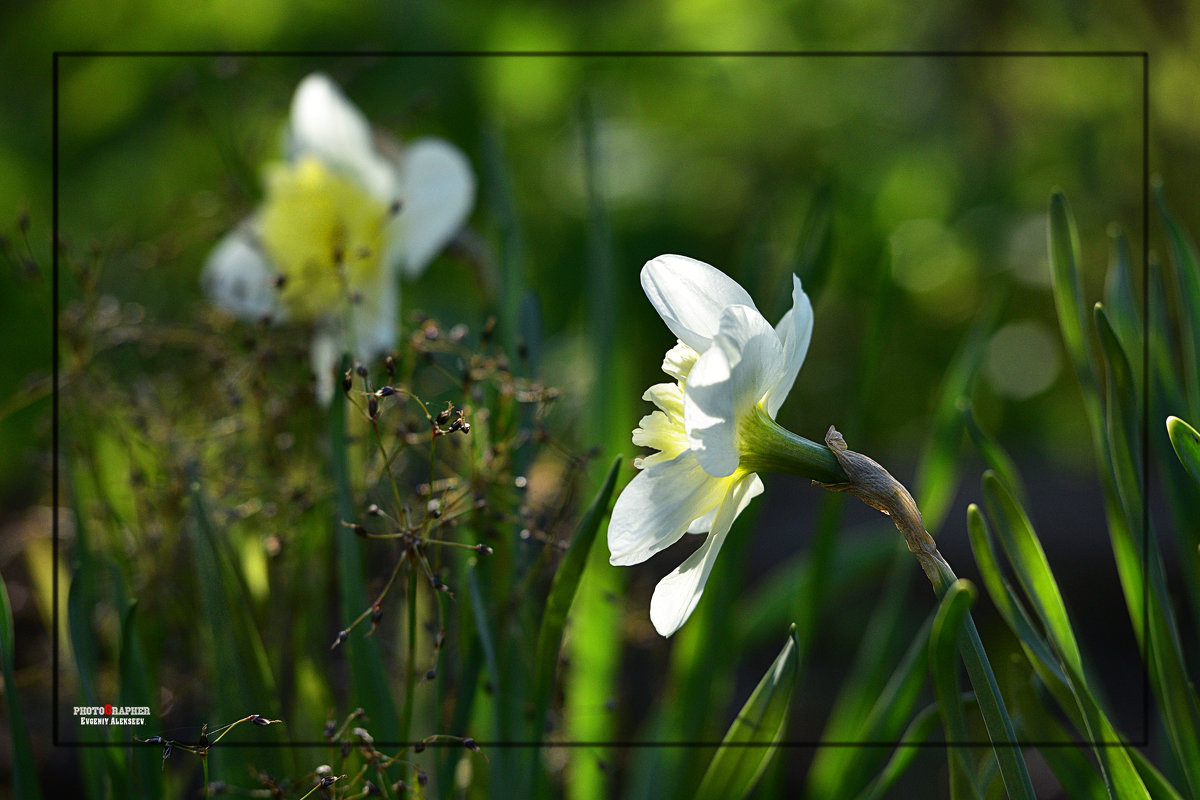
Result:
{"label": "broad pointed sunlit leaf tip at bottom, below the sharp daffodil", "polygon": [[793,625],[784,649],[721,740],[722,746],[701,781],[697,800],[736,800],[750,794],[775,752],[773,745],[784,738],[798,674],[799,648]]}

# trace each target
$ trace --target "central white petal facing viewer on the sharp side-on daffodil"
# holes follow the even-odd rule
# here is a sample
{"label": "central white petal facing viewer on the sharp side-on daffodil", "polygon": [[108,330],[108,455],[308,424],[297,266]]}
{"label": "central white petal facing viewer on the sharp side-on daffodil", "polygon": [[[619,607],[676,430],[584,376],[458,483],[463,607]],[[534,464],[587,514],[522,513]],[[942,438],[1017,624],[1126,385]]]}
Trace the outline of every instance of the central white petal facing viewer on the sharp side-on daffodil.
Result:
{"label": "central white petal facing viewer on the sharp side-on daffodil", "polygon": [[683,414],[688,445],[716,477],[738,468],[738,422],[779,383],[784,348],[755,308],[730,306],[720,330],[691,368]]}

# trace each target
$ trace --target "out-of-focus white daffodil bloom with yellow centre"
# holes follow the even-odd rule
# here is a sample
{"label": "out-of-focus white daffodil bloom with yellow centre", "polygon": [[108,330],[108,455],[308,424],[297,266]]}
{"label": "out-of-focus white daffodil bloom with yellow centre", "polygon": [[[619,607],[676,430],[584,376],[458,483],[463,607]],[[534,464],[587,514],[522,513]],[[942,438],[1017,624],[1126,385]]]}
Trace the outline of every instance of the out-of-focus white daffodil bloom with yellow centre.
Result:
{"label": "out-of-focus white daffodil bloom with yellow centre", "polygon": [[380,150],[362,112],[320,73],[296,88],[286,156],[202,281],[241,319],[312,323],[317,398],[328,404],[343,353],[370,360],[395,345],[397,273],[419,276],[462,227],[475,179],[442,139]]}

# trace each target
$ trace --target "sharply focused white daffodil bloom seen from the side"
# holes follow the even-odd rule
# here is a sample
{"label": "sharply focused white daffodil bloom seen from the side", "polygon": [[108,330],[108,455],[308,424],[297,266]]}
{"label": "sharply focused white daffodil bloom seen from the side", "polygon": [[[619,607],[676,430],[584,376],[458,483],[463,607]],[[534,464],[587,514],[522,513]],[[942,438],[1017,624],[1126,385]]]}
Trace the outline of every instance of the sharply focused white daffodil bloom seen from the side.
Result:
{"label": "sharply focused white daffodil bloom seen from the side", "polygon": [[[772,327],[750,295],[720,270],[683,255],[642,267],[642,288],[678,343],[662,371],[676,383],[642,396],[634,444],[658,450],[617,498],[608,524],[610,561],[638,564],[685,533],[703,545],[665,577],[650,621],[671,636],[696,608],[730,527],[762,493],[757,469],[778,467],[787,434],[774,423],[812,335],[812,305],[792,278],[792,308]],[[786,467],[785,467],[786,469]]]}

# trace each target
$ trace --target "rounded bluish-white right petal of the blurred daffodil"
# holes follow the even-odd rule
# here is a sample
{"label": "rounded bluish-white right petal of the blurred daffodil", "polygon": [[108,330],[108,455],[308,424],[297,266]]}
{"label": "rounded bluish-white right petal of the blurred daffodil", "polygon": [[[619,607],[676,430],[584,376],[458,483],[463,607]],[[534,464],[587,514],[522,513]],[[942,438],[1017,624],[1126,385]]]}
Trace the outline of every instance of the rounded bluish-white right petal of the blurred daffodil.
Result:
{"label": "rounded bluish-white right petal of the blurred daffodil", "polygon": [[420,275],[458,229],[475,201],[475,175],[461,150],[418,139],[401,158],[401,207],[389,231],[388,264]]}

